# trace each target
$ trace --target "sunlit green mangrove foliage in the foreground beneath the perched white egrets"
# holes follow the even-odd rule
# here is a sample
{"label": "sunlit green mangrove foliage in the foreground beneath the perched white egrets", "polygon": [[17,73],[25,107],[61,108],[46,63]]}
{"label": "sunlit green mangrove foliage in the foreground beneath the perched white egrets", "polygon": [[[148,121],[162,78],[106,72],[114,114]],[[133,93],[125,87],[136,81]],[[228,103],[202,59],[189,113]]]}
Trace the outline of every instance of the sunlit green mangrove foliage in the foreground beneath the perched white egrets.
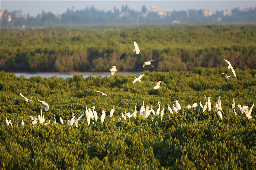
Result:
{"label": "sunlit green mangrove foliage in the foreground beneath the perched white egrets", "polygon": [[[132,84],[134,77],[74,75],[73,78],[29,79],[1,71],[1,168],[2,169],[255,169],[256,123],[255,107],[249,121],[236,107],[231,110],[232,99],[237,104],[251,107],[255,103],[256,70],[236,69],[236,78],[227,80],[222,68],[196,68],[192,73],[181,71],[143,71],[140,86]],[[151,85],[161,80],[162,92]],[[102,96],[95,90],[110,97]],[[40,103],[29,104],[19,93],[33,100],[43,100],[50,110],[43,114],[45,121],[57,115],[57,124],[31,125],[30,116],[40,115]],[[212,97],[212,106],[221,96],[223,120],[216,109],[203,113],[201,107],[193,111],[186,108]],[[181,110],[171,115],[167,105],[178,100]],[[147,119],[121,118],[126,109],[133,113],[142,101],[153,106],[164,105],[164,116],[149,115]],[[72,113],[77,117],[92,106],[98,117],[104,109],[103,123],[87,125],[85,115],[78,128],[69,127]],[[113,118],[109,118],[115,106]],[[162,106],[162,105],[161,105]],[[161,109],[162,110],[162,107]],[[21,127],[21,116],[25,126]],[[5,117],[13,120],[7,126]],[[62,117],[64,124],[60,124]],[[151,119],[153,121],[151,121]],[[18,126],[16,126],[16,124]]]}

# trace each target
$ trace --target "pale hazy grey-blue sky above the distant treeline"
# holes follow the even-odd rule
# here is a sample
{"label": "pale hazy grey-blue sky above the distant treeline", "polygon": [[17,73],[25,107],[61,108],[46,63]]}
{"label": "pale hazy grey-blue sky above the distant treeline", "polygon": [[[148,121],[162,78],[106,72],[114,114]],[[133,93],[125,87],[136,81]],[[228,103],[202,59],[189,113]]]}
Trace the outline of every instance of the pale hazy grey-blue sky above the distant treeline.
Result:
{"label": "pale hazy grey-blue sky above the distant treeline", "polygon": [[74,6],[74,11],[84,10],[86,7],[94,5],[96,9],[104,11],[113,11],[114,6],[121,10],[123,5],[126,5],[132,10],[141,11],[141,7],[145,5],[147,10],[150,9],[152,5],[156,6],[156,9],[169,9],[171,11],[180,11],[187,9],[208,9],[212,12],[228,10],[231,11],[233,8],[239,7],[239,9],[244,9],[248,7],[255,7],[256,1],[10,1],[1,0],[1,11],[7,9],[8,11],[14,11],[22,9],[24,14],[29,12],[30,15],[36,16],[38,13],[41,14],[42,10],[45,12],[52,12],[53,14],[62,14],[67,11],[67,9],[72,9]]}

